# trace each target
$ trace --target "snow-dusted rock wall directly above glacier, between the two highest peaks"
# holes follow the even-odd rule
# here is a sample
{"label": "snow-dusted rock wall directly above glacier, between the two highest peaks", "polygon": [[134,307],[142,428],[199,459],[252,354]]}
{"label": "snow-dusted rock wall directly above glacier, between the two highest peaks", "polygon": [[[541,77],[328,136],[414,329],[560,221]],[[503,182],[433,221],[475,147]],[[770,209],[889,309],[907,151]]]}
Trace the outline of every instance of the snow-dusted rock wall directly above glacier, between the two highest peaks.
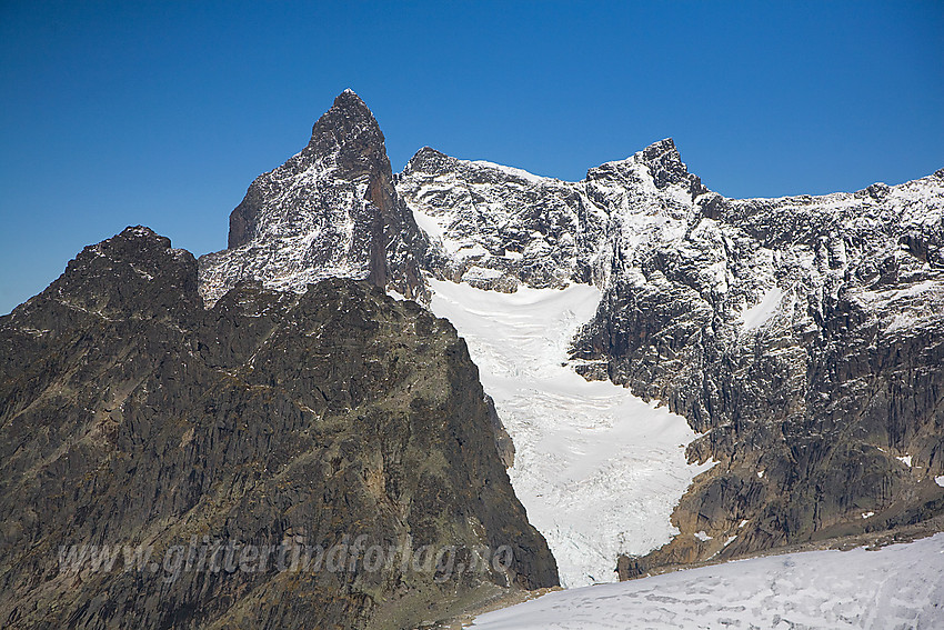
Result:
{"label": "snow-dusted rock wall directly above glacier, between the two highest peaks", "polygon": [[514,291],[592,278],[605,217],[566,182],[421,149],[398,191],[429,234],[440,279]]}

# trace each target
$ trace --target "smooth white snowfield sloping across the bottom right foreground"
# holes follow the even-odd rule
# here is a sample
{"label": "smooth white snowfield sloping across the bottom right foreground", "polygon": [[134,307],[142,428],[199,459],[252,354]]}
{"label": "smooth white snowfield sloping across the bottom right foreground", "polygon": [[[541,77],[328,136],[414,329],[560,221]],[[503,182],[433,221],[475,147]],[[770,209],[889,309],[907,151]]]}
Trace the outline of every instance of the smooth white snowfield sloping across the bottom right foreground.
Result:
{"label": "smooth white snowfield sloping across the bottom right foreground", "polygon": [[559,591],[482,614],[471,628],[944,628],[944,533]]}

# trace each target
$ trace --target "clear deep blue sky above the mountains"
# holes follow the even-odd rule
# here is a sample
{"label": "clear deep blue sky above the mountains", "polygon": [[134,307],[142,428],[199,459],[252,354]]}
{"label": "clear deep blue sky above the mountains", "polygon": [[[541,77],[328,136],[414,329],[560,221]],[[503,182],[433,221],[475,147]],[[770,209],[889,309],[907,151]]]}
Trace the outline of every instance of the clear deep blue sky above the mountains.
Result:
{"label": "clear deep blue sky above the mountains", "polygon": [[0,0],[0,313],[128,224],[222,249],[348,87],[394,170],[671,136],[729,197],[857,190],[944,167],[944,2]]}

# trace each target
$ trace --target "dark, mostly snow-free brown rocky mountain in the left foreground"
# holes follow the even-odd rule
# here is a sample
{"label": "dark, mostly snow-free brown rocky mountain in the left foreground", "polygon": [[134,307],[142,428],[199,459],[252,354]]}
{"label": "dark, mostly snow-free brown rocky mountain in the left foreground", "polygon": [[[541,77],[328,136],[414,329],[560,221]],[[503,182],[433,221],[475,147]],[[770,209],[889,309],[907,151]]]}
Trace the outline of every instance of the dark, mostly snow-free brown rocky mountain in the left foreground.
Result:
{"label": "dark, mostly snow-free brown rocky mountain in the left foreground", "polygon": [[[464,342],[413,302],[337,279],[304,294],[241,283],[204,310],[193,257],[129,228],[0,318],[0,349],[6,628],[413,627],[490,584],[556,583]],[[58,562],[70,544],[160,560],[192,541],[330,550],[361,536],[455,546],[465,562],[508,544],[513,560],[173,580],[123,558]]]}

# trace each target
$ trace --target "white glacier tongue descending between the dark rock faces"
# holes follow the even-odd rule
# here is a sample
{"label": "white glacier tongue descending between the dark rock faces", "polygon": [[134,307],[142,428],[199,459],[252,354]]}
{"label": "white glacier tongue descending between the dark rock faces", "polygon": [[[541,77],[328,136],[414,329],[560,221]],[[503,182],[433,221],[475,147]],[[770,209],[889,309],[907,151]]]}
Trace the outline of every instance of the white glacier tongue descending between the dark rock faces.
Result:
{"label": "white glacier tongue descending between the dark rock faces", "polygon": [[465,339],[515,446],[509,470],[529,521],[566,587],[615,580],[620,553],[642,554],[677,530],[669,518],[692,479],[695,433],[681,416],[566,364],[600,291],[521,287],[514,293],[431,280],[432,311]]}

